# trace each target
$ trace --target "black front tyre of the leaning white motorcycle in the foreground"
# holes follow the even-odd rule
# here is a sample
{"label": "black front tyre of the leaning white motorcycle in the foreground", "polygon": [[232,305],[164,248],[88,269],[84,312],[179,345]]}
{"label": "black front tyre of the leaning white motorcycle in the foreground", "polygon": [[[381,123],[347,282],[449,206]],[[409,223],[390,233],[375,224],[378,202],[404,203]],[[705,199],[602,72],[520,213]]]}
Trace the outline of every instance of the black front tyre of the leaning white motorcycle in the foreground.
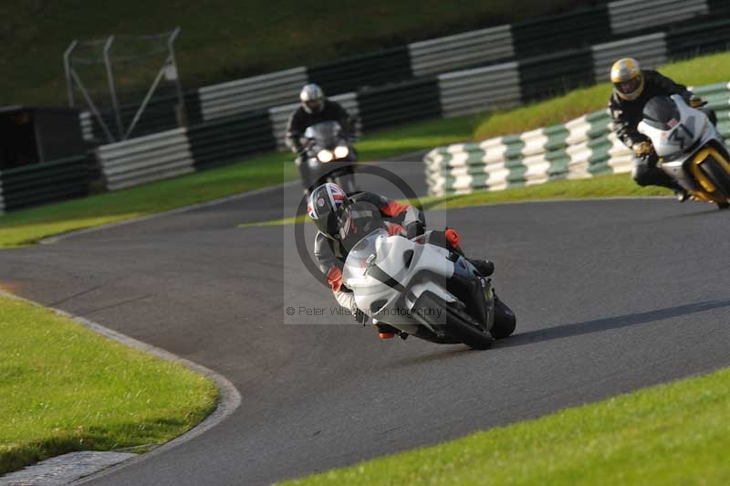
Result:
{"label": "black front tyre of the leaning white motorcycle in the foreground", "polygon": [[[453,338],[459,343],[464,343],[473,349],[488,349],[494,342],[494,338],[482,327],[474,322],[469,314],[464,312],[458,304],[443,301],[442,298],[433,294],[433,292],[425,291],[418,298],[414,308],[416,309],[441,309],[445,315],[442,315],[438,323],[434,325],[447,336]],[[463,306],[464,304],[462,304]],[[430,312],[433,315],[433,312]],[[427,315],[424,312],[423,315]],[[445,317],[445,320],[444,320]]]}

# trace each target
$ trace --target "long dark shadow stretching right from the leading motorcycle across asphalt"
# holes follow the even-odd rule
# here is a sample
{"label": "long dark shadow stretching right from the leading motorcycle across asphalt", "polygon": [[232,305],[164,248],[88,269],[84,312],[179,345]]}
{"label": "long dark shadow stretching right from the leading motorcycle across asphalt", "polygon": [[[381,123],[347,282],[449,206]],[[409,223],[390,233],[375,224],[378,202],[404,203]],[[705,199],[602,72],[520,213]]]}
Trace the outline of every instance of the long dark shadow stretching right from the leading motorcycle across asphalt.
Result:
{"label": "long dark shadow stretching right from the leading motorcycle across asphalt", "polygon": [[[581,334],[601,333],[611,329],[620,329],[621,327],[644,324],[647,322],[662,321],[662,319],[671,319],[673,317],[694,314],[697,312],[711,311],[721,307],[730,307],[730,301],[704,301],[679,305],[676,307],[668,307],[666,309],[658,309],[650,312],[606,317],[595,321],[563,324],[555,327],[549,327],[547,329],[538,329],[537,331],[514,334],[505,340],[496,342],[495,347],[506,348],[522,346],[525,344],[540,343],[551,339],[560,339],[564,337],[578,336]],[[517,326],[519,329],[519,322],[517,322]]]}

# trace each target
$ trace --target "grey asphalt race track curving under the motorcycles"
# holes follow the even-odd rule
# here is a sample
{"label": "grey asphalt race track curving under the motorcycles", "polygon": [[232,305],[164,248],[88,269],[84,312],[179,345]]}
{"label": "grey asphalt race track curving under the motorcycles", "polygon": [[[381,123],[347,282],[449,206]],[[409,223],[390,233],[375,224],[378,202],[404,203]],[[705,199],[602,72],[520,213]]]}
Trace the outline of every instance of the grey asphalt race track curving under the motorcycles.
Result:
{"label": "grey asphalt race track curving under the motorcycles", "polygon": [[[387,166],[423,190],[420,164]],[[236,227],[292,216],[296,189],[0,251],[0,286],[214,369],[243,396],[217,428],[88,484],[279,481],[730,365],[730,212],[626,199],[427,215],[495,260],[516,311],[516,334],[476,352],[378,340],[330,315],[293,227]]]}

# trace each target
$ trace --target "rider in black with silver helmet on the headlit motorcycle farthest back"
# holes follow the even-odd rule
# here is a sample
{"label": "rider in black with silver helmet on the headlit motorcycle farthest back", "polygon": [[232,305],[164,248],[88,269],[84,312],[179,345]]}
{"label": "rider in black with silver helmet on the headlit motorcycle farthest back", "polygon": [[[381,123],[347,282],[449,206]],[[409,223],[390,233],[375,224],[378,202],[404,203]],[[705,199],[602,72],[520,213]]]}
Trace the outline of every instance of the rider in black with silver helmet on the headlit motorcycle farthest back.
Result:
{"label": "rider in black with silver helmet on the headlit motorcycle farthest back", "polygon": [[287,122],[285,143],[292,152],[297,153],[297,168],[302,178],[305,192],[315,181],[310,180],[309,167],[306,164],[306,148],[302,146],[301,137],[308,127],[319,122],[339,122],[339,126],[351,136],[352,121],[349,113],[337,101],[328,100],[324,91],[317,84],[311,83],[299,93],[301,106],[294,111]]}

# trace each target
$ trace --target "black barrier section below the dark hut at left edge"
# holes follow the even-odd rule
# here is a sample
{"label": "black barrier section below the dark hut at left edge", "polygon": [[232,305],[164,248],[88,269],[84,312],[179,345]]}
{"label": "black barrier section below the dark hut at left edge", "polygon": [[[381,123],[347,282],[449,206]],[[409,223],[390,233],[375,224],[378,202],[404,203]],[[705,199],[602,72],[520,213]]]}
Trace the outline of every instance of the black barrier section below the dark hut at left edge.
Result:
{"label": "black barrier section below the dark hut at left edge", "polygon": [[86,156],[0,171],[0,212],[89,194]]}

